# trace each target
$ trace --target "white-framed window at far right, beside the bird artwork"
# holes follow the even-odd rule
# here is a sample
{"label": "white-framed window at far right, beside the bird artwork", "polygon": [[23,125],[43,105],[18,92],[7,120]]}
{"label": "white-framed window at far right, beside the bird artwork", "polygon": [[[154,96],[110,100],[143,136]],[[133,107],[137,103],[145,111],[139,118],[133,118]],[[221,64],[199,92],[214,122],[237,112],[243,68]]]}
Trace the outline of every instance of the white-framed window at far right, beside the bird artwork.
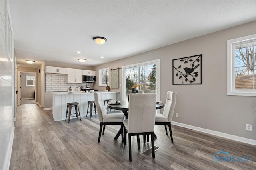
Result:
{"label": "white-framed window at far right, beside the bird artwork", "polygon": [[256,96],[256,34],[228,40],[228,95]]}

